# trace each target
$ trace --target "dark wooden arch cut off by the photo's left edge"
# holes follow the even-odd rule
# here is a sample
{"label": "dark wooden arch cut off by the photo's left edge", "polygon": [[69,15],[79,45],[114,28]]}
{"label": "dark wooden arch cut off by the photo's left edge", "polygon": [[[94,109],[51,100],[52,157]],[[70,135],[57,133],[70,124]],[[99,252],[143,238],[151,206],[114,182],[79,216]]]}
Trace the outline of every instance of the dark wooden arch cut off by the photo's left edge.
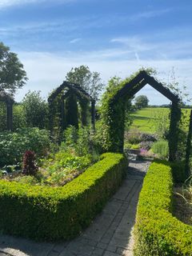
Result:
{"label": "dark wooden arch cut off by the photo's left edge", "polygon": [[6,129],[13,130],[14,99],[6,92],[0,91],[0,102],[5,102],[6,104]]}

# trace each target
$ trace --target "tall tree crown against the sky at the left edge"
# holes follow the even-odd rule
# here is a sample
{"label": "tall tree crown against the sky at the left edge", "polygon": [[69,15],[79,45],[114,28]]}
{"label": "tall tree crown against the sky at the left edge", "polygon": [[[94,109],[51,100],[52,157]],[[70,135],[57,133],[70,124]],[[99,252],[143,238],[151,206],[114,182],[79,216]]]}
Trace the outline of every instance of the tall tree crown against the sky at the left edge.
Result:
{"label": "tall tree crown against the sky at the left edge", "polygon": [[25,85],[26,80],[26,71],[17,54],[0,42],[0,91],[14,94],[15,90]]}

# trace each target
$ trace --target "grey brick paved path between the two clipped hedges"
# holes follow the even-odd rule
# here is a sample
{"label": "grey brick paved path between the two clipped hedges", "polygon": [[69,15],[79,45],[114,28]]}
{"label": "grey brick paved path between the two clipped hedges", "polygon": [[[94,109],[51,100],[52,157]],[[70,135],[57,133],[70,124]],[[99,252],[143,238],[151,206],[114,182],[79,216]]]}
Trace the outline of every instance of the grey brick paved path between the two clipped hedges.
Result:
{"label": "grey brick paved path between the two clipped hedges", "polygon": [[71,242],[32,242],[0,235],[0,255],[13,256],[118,256],[133,255],[133,226],[138,194],[150,162],[130,162],[126,180],[102,214]]}

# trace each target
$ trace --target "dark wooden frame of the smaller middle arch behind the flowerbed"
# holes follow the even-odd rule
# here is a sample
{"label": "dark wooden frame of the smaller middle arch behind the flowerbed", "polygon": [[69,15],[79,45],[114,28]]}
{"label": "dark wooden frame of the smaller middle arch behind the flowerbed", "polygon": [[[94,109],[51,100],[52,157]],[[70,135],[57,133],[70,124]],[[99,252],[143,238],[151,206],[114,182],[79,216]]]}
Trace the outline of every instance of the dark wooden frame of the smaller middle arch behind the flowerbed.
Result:
{"label": "dark wooden frame of the smaller middle arch behind the flowerbed", "polygon": [[[75,94],[78,98],[79,102],[82,100],[91,103],[91,124],[92,128],[95,129],[95,100],[86,92],[86,90],[82,89],[81,86],[75,83],[66,82],[64,81],[62,85],[58,86],[57,89],[54,90],[50,97],[48,98],[49,107],[51,109],[52,104],[54,104],[54,99],[58,96],[60,97],[61,101],[61,128],[64,130],[64,116],[65,116],[65,100],[70,94]],[[52,116],[50,114],[50,127],[52,125]],[[51,130],[51,128],[50,128]]]}

